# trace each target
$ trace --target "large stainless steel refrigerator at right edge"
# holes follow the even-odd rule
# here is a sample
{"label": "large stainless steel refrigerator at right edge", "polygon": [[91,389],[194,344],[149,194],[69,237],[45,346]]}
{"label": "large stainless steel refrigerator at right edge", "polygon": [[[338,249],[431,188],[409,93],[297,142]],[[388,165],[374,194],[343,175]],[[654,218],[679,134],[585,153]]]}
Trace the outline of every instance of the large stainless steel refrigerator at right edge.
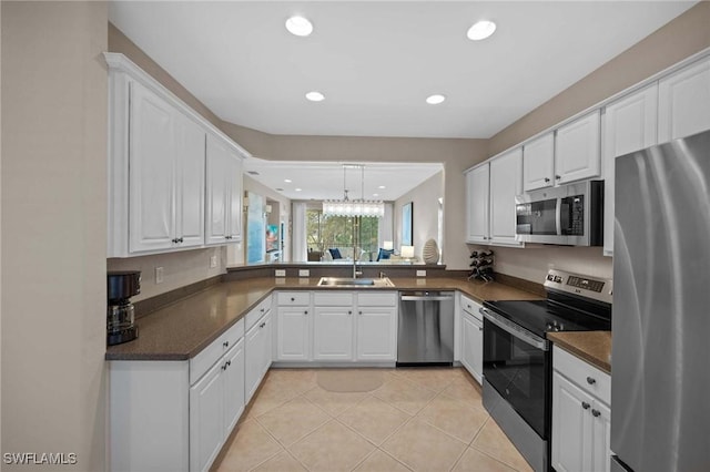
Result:
{"label": "large stainless steel refrigerator at right edge", "polygon": [[616,160],[612,470],[710,471],[710,132]]}

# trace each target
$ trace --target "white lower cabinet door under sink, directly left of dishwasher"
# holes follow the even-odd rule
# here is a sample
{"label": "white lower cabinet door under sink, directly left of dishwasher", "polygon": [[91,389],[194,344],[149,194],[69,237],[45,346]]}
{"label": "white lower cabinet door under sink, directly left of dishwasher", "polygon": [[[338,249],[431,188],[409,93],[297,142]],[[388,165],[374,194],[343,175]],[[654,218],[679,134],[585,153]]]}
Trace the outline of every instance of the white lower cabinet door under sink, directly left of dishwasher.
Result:
{"label": "white lower cabinet door under sink, directly left of dishwasher", "polygon": [[397,360],[397,309],[357,308],[358,361]]}

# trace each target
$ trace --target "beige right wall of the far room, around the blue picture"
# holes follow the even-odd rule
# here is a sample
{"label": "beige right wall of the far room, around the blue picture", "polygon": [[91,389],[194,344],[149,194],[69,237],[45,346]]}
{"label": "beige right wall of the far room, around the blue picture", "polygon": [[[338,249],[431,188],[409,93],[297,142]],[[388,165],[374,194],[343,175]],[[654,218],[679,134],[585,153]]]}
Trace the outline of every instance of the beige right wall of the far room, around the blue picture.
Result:
{"label": "beige right wall of the far room, around the blue picture", "polygon": [[399,250],[402,246],[402,207],[407,203],[413,203],[412,216],[412,244],[414,253],[422,258],[422,249],[427,239],[434,238],[438,242],[438,212],[439,198],[444,197],[444,172],[424,181],[410,192],[400,196],[395,201],[394,220],[395,220],[395,248]]}

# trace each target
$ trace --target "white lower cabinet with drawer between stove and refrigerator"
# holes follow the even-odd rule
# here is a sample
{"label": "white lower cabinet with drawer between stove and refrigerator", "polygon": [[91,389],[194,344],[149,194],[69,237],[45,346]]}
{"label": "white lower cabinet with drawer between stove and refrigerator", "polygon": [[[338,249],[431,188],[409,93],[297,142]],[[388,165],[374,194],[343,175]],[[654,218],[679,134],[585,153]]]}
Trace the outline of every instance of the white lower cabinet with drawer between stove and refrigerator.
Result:
{"label": "white lower cabinet with drawer between stove and refrigerator", "polygon": [[610,469],[610,376],[554,347],[552,466],[558,472]]}

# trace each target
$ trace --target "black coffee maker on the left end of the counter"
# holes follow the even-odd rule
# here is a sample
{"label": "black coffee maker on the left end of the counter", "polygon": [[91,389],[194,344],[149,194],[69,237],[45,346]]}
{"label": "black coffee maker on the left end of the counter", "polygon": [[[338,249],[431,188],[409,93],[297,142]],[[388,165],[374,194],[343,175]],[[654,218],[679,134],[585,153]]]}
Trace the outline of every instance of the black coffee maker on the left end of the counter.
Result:
{"label": "black coffee maker on the left end of the counter", "polygon": [[141,293],[141,271],[108,273],[109,308],[106,312],[106,343],[120,345],[138,338],[135,309],[130,298]]}

